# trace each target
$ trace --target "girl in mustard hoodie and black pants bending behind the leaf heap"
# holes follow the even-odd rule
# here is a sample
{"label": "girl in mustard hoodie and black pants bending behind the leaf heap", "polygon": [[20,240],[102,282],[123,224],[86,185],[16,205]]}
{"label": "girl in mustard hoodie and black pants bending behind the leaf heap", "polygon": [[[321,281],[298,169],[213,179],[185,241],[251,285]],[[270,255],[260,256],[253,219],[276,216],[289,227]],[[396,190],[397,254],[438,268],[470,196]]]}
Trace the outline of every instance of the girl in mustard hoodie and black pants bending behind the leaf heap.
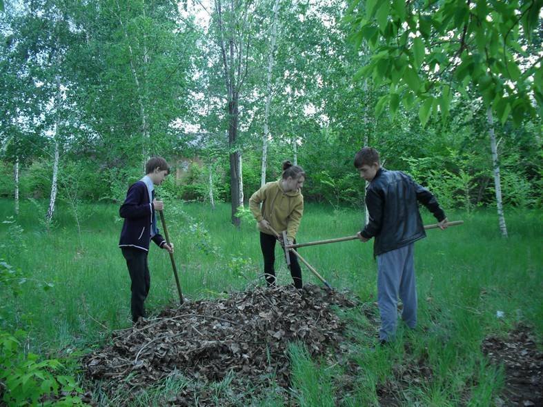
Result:
{"label": "girl in mustard hoodie and black pants bending behind the leaf heap", "polygon": [[[304,196],[300,192],[306,173],[302,167],[293,166],[290,161],[283,163],[283,176],[279,181],[268,182],[255,192],[249,199],[249,207],[257,219],[260,230],[260,247],[264,255],[264,276],[268,286],[275,286],[275,235],[268,228],[271,226],[277,232],[286,230],[286,244],[296,242],[302,214],[304,213]],[[262,203],[262,208],[259,204]],[[290,275],[294,286],[302,289],[302,270],[298,259],[290,256]]]}

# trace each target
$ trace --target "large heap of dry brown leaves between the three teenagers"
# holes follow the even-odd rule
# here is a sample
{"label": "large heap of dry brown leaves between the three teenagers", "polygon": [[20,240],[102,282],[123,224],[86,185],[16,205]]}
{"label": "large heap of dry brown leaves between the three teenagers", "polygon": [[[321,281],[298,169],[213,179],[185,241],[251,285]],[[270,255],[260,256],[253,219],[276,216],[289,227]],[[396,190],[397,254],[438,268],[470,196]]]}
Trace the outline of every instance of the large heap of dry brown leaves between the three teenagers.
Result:
{"label": "large heap of dry brown leaves between the three teenagers", "polygon": [[[290,341],[303,342],[313,357],[332,359],[342,343],[345,324],[333,307],[356,305],[342,293],[312,285],[302,293],[281,286],[186,302],[145,324],[116,331],[111,346],[85,358],[86,375],[103,380],[108,393],[124,386],[130,389],[128,394],[134,394],[168,375],[181,373],[205,384],[233,371],[236,375],[230,386],[244,388],[250,383],[251,393],[258,396],[269,392],[271,377],[288,388]],[[187,386],[170,402],[191,405],[194,392]],[[198,393],[199,404],[206,405],[205,386]],[[230,402],[219,400],[224,406]]]}

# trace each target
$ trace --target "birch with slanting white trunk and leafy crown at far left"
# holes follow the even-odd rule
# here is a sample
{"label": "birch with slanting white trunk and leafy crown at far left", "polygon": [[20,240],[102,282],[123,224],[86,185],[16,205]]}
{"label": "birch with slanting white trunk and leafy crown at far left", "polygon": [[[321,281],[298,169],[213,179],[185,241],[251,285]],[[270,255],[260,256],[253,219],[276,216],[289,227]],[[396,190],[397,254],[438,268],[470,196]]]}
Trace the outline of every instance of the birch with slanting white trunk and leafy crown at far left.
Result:
{"label": "birch with slanting white trunk and leafy crown at far left", "polygon": [[[61,128],[67,122],[70,110],[69,103],[64,101],[72,86],[66,75],[66,54],[78,41],[78,34],[72,31],[66,18],[64,6],[55,1],[32,0],[10,8],[8,19],[12,33],[26,33],[24,36],[12,34],[8,41],[8,61],[14,65],[14,74],[20,83],[17,104],[13,106],[14,126],[26,123],[26,132],[35,132],[47,141],[52,133],[55,149],[50,202],[44,219],[46,224],[50,224],[55,212],[59,150],[64,138]],[[20,135],[21,132],[19,129],[17,133]],[[22,143],[21,139],[14,142],[15,145],[19,143]],[[33,146],[34,150],[37,146]],[[19,158],[20,154],[16,157]]]}

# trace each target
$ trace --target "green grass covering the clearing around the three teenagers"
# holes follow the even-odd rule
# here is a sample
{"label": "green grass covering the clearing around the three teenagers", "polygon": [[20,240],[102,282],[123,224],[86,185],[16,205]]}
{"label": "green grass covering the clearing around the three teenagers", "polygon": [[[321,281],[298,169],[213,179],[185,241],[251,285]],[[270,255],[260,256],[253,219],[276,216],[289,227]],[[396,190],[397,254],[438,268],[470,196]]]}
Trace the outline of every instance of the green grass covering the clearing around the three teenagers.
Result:
{"label": "green grass covering the clearing around the three teenagers", "polygon": [[[0,257],[28,278],[18,297],[0,291],[0,327],[26,330],[34,352],[66,355],[107,340],[108,330],[130,326],[130,279],[117,248],[121,229],[117,211],[118,206],[105,203],[82,205],[81,236],[72,213],[63,206],[57,208],[50,230],[40,221],[43,207],[28,202],[21,204],[15,224],[0,224]],[[0,213],[0,222],[14,215],[12,202],[0,200]],[[234,228],[227,204],[215,211],[198,203],[170,204],[165,215],[186,297],[215,297],[264,284],[254,222]],[[502,370],[488,366],[483,357],[482,339],[491,333],[505,335],[522,322],[533,327],[541,343],[540,212],[507,210],[508,239],[500,237],[493,210],[469,216],[448,212],[448,218],[464,219],[465,224],[445,232],[429,230],[428,238],[416,244],[417,330],[406,331],[400,324],[395,344],[374,350],[375,336],[368,336],[373,329],[368,321],[362,314],[345,316],[353,320],[351,346],[359,366],[355,391],[346,405],[377,405],[377,388],[398,380],[397,366],[424,364],[431,377],[399,386],[397,398],[403,404],[486,406],[493,403],[504,380]],[[428,213],[424,219],[434,223]],[[354,235],[362,221],[363,214],[357,210],[308,203],[297,240]],[[347,241],[300,252],[333,287],[348,288],[371,304],[376,299],[371,245]],[[290,284],[279,248],[276,258],[279,284]],[[177,301],[177,290],[166,251],[152,247],[149,266],[151,291],[146,306],[158,312]],[[319,284],[306,268],[302,272],[305,283]],[[52,283],[52,288],[42,290],[46,283]],[[503,318],[496,317],[498,310],[504,312]],[[292,395],[299,404],[317,405],[311,404],[312,397],[319,395],[319,405],[328,405],[342,391],[331,370],[322,361],[308,358],[303,348],[292,348],[291,358]],[[181,385],[164,384],[174,389]],[[226,382],[217,384],[216,391],[224,392],[227,387]],[[141,396],[141,404],[163,400],[153,391]],[[261,404],[280,405],[274,397]]]}

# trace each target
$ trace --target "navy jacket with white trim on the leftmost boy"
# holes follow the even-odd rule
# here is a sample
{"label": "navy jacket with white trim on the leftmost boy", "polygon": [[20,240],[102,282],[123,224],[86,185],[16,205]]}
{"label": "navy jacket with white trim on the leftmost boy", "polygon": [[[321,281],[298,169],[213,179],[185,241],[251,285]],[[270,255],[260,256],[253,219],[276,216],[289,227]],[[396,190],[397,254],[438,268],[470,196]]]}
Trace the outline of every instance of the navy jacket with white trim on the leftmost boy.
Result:
{"label": "navy jacket with white trim on the leftmost boy", "polygon": [[[149,192],[144,181],[133,183],[128,188],[126,199],[119,209],[119,215],[124,218],[119,247],[133,247],[146,252],[149,250],[154,210],[155,206],[149,201]],[[166,239],[160,235],[158,228],[152,241],[159,248],[166,243]]]}

